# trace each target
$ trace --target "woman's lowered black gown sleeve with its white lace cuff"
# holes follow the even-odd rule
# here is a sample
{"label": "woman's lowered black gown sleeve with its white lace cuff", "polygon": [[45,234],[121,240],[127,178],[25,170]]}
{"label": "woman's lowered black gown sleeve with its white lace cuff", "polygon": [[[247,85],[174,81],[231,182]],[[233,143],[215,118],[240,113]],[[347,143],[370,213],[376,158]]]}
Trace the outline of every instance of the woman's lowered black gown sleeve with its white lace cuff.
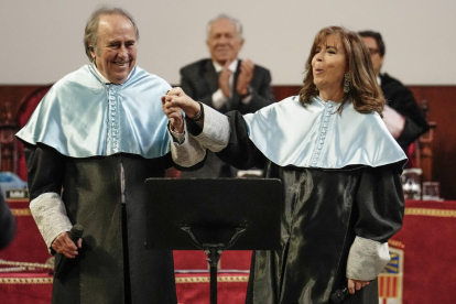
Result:
{"label": "woman's lowered black gown sleeve with its white lace cuff", "polygon": [[356,194],[356,238],[347,261],[347,278],[370,281],[390,261],[388,240],[404,216],[400,163],[366,167]]}

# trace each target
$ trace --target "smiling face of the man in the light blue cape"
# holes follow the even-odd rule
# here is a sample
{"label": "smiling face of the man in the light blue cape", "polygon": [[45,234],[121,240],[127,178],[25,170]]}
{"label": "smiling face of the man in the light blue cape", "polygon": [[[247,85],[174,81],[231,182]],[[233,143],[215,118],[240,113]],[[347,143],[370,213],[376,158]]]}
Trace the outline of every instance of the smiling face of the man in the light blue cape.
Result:
{"label": "smiling face of the man in the light blue cape", "polygon": [[131,21],[120,14],[101,15],[98,50],[90,53],[102,76],[113,84],[122,84],[137,63],[137,35]]}

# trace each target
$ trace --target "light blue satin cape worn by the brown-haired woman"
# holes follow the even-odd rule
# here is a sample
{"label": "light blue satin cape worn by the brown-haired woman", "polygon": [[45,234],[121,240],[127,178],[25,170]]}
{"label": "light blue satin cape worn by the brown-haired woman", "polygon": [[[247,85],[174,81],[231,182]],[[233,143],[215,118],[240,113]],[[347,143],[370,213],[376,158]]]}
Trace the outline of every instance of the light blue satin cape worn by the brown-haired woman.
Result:
{"label": "light blue satin cape worn by the brown-haired woman", "polygon": [[374,167],[406,160],[379,113],[360,113],[349,102],[340,116],[338,107],[319,97],[303,107],[293,96],[243,118],[250,140],[281,166]]}

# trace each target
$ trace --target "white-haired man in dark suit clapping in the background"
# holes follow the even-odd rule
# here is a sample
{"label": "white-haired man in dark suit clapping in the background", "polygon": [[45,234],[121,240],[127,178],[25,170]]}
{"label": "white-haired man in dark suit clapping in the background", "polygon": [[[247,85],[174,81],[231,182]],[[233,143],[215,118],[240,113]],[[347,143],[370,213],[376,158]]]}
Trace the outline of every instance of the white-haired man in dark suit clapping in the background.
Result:
{"label": "white-haired man in dark suit clapping in the background", "polygon": [[[245,39],[242,24],[226,14],[207,23],[207,48],[210,58],[204,58],[181,68],[181,88],[193,99],[221,113],[238,110],[253,113],[275,101],[271,89],[271,73],[250,59],[240,59]],[[198,171],[182,172],[188,177],[236,177],[237,170],[207,154],[205,166]]]}

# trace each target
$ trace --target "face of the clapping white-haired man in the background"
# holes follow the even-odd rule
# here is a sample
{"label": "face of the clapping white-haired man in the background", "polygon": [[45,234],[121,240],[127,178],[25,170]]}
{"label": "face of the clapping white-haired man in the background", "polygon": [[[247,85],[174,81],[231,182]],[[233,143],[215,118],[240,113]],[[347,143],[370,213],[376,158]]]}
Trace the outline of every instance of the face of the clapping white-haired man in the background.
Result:
{"label": "face of the clapping white-haired man in the background", "polygon": [[210,26],[206,43],[213,61],[225,65],[238,57],[243,39],[239,39],[235,23],[228,19],[219,19]]}

